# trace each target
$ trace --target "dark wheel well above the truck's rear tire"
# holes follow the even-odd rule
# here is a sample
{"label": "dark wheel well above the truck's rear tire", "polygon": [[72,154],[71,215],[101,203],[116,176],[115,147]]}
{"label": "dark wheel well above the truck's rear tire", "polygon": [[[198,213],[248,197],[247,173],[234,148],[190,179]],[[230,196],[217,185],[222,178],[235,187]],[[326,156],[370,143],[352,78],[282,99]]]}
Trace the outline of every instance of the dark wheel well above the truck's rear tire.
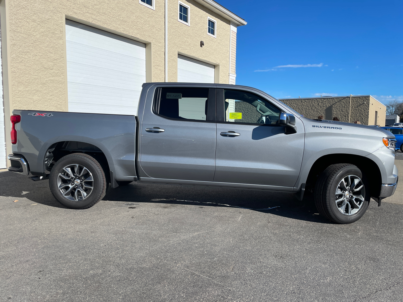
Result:
{"label": "dark wheel well above the truck's rear tire", "polygon": [[100,163],[102,169],[104,169],[106,178],[108,180],[110,179],[109,164],[104,152],[94,145],[78,141],[62,141],[51,145],[45,153],[44,168],[48,171],[52,170],[52,167],[60,158],[71,153],[85,153],[91,155]]}

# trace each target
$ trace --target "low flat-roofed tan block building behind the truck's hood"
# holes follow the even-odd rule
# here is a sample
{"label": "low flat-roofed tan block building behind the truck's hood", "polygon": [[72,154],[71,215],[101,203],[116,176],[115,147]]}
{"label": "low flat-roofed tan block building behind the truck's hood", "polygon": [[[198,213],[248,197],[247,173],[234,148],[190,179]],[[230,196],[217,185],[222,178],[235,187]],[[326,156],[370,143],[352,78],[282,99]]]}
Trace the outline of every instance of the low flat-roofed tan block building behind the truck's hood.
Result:
{"label": "low flat-roofed tan block building behind the truck's hood", "polygon": [[323,115],[326,120],[339,118],[341,122],[359,121],[365,125],[385,126],[386,106],[371,95],[344,97],[304,97],[280,99],[306,118]]}

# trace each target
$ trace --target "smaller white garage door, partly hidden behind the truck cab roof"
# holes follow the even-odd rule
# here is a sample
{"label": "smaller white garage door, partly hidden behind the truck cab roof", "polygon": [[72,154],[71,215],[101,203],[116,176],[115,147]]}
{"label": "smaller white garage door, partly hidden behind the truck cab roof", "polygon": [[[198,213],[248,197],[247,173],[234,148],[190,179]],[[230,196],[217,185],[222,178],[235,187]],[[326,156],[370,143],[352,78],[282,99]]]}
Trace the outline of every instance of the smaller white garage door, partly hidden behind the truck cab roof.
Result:
{"label": "smaller white garage door, partly hidden behind the truck cab roof", "polygon": [[179,54],[178,82],[214,83],[214,65]]}

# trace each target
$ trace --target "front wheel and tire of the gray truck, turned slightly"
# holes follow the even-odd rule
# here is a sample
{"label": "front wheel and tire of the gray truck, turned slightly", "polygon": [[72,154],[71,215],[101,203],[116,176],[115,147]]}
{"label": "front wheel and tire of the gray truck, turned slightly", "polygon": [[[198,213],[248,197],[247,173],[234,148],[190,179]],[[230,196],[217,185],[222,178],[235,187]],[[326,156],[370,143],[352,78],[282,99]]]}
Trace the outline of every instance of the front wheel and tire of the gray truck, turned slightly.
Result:
{"label": "front wheel and tire of the gray truck, turned slightly", "polygon": [[347,224],[360,219],[368,209],[369,200],[369,187],[361,170],[350,163],[328,166],[315,185],[316,208],[335,223]]}

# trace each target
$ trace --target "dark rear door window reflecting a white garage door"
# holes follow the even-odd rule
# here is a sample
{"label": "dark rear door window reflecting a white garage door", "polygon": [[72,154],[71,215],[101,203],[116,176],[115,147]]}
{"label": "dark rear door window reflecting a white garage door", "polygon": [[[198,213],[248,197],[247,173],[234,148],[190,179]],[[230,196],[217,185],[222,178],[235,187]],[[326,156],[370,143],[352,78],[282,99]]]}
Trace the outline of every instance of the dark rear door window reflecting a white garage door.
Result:
{"label": "dark rear door window reflecting a white garage door", "polygon": [[206,120],[208,88],[162,88],[157,114],[183,120]]}

